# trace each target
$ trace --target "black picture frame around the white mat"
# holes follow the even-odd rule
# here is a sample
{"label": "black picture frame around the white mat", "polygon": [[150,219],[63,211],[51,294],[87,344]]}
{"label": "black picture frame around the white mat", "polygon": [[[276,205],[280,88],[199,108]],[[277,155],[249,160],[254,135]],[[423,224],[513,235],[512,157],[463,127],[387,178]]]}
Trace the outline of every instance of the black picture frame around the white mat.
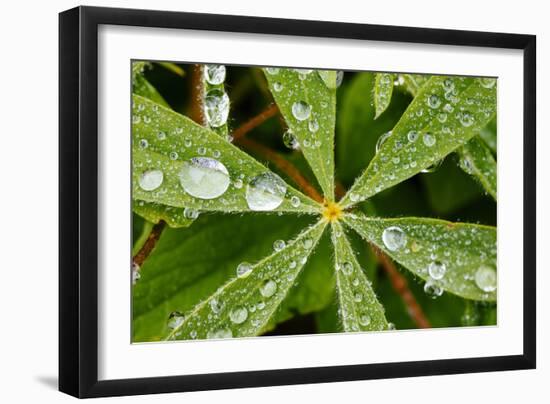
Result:
{"label": "black picture frame around the white mat", "polygon": [[[98,381],[97,52],[100,24],[522,50],[524,60],[523,354]],[[535,368],[535,36],[77,7],[59,15],[59,99],[59,389],[61,391],[84,398]]]}

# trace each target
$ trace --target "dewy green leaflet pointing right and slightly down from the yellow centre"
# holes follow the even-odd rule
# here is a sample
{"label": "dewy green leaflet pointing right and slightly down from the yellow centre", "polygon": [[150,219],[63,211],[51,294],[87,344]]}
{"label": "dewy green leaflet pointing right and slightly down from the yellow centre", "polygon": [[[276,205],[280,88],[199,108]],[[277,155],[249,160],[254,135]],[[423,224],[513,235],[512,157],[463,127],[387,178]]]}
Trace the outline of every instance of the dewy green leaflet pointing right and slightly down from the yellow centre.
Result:
{"label": "dewy green leaflet pointing right and slightly down from the yellow centre", "polygon": [[355,213],[344,221],[434,288],[471,300],[496,300],[495,227]]}

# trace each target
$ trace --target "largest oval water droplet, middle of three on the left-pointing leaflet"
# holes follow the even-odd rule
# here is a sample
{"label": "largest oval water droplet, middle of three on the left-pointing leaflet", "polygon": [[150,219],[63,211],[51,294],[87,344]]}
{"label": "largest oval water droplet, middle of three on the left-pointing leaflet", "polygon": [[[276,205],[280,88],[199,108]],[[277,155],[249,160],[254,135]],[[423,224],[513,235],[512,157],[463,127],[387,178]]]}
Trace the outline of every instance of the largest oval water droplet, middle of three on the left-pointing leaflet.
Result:
{"label": "largest oval water droplet, middle of three on the left-pointing leaflet", "polygon": [[185,192],[201,199],[217,198],[229,187],[227,168],[209,157],[194,157],[184,162],[179,179]]}

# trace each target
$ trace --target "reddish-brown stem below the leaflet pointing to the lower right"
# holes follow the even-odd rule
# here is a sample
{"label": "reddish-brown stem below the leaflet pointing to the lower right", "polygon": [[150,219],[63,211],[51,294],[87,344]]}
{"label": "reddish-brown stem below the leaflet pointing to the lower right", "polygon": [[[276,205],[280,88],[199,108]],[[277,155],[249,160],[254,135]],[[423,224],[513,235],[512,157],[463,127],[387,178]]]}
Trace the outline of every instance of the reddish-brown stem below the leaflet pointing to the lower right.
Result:
{"label": "reddish-brown stem below the leaflet pointing to the lower right", "polygon": [[416,326],[418,328],[431,328],[430,321],[426,318],[426,315],[422,311],[422,307],[420,307],[416,301],[416,298],[409,289],[409,285],[405,277],[399,273],[392,260],[386,254],[372,244],[370,244],[370,247],[378,258],[378,262],[386,271],[393,289],[401,297],[401,300],[403,300],[403,303],[407,307],[407,312],[415,322]]}

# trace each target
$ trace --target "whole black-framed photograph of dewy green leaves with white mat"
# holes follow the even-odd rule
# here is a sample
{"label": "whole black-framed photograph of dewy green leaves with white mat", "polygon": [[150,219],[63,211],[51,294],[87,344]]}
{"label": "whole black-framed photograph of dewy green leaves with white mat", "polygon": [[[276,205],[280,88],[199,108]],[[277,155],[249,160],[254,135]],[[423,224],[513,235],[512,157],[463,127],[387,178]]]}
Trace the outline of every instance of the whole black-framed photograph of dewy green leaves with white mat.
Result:
{"label": "whole black-framed photograph of dewy green leaves with white mat", "polygon": [[61,391],[535,367],[534,36],[59,22]]}

